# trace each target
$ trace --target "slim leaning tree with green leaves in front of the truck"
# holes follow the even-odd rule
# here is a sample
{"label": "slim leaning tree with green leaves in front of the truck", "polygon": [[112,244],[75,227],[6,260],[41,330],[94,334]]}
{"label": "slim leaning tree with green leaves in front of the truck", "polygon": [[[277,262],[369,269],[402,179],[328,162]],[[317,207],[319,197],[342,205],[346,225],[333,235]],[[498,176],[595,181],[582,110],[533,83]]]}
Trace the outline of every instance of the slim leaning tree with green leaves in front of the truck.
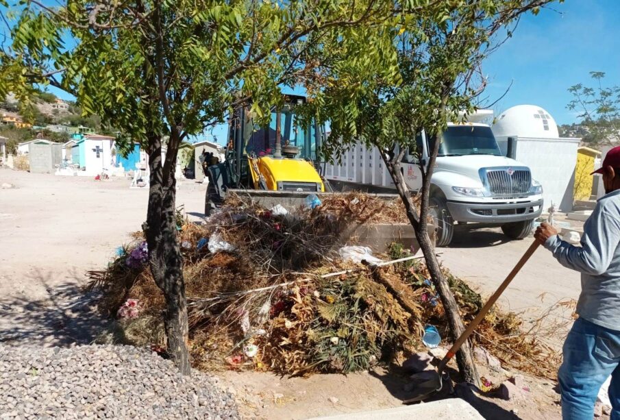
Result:
{"label": "slim leaning tree with green leaves in front of the truck", "polygon": [[[495,34],[506,29],[510,35],[508,26],[521,14],[538,13],[547,3],[444,1],[427,14],[404,13],[397,22],[373,28],[373,36],[383,40],[383,51],[360,56],[354,40],[330,40],[329,47],[319,51],[319,65],[308,82],[312,95],[308,114],[329,121],[332,129],[323,153],[338,157],[357,142],[379,148],[441,297],[453,341],[464,325],[427,232],[432,175],[443,130],[448,121],[475,109],[486,84],[482,60],[501,44],[493,42]],[[422,129],[433,145],[427,164],[414,142]],[[407,151],[418,154],[423,180],[419,209],[401,172]],[[458,352],[457,362],[465,380],[478,382],[468,343]]]}

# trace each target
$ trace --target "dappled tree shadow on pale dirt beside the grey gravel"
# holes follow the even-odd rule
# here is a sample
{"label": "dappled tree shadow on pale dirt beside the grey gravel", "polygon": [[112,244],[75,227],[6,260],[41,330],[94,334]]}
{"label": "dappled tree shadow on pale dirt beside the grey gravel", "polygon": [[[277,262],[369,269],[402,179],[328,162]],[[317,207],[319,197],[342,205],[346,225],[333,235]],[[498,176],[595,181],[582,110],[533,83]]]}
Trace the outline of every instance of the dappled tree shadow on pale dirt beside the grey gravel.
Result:
{"label": "dappled tree shadow on pale dirt beside the grey gravel", "polygon": [[24,279],[44,286],[45,299],[0,297],[0,343],[59,347],[88,344],[108,326],[110,321],[97,313],[95,292],[87,293],[79,282],[71,280],[51,286],[49,277],[36,272]]}

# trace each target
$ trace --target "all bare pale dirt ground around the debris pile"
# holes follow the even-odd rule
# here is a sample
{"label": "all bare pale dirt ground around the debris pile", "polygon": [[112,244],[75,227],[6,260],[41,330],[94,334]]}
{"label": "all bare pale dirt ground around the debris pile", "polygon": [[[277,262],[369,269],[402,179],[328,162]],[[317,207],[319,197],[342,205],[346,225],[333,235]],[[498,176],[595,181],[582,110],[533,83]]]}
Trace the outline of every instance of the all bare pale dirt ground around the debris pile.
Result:
{"label": "all bare pale dirt ground around the debris pile", "polygon": [[[96,182],[90,177],[0,169],[3,183],[14,188],[0,189],[0,341],[88,343],[105,321],[80,290],[86,283],[85,272],[105,267],[116,247],[130,240],[129,232],[140,230],[147,190],[129,189],[129,180]],[[180,185],[177,203],[190,217],[202,216],[205,189],[190,181]],[[488,295],[530,242],[506,242],[499,230],[458,227],[454,245],[442,250],[441,259]],[[512,310],[533,307],[540,312],[562,297],[576,298],[579,288],[578,274],[560,267],[541,249],[508,288],[502,304]],[[547,293],[542,303],[541,293]],[[250,372],[227,373],[223,378],[243,393],[240,399],[247,397],[247,404],[256,408],[251,410],[254,414],[290,419],[395,406],[401,384],[390,385],[383,376],[321,375],[306,381]],[[545,392],[549,389],[545,386]],[[554,398],[552,392],[549,398]],[[517,418],[495,404],[482,403],[477,408],[486,406],[491,417]],[[520,410],[522,418],[541,415],[535,407]],[[547,409],[544,417],[558,418],[557,408]]]}

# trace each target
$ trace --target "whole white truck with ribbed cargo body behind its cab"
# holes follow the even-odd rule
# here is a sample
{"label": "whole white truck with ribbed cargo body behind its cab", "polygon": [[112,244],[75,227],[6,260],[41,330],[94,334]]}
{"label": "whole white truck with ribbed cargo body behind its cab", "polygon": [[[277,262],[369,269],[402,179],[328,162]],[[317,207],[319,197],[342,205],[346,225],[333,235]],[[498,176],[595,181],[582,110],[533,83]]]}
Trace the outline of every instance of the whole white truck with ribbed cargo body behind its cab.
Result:
{"label": "whole white truck with ribbed cargo body behind its cab", "polygon": [[[530,168],[502,156],[491,127],[475,122],[488,118],[485,111],[467,123],[450,123],[443,133],[430,190],[438,246],[449,245],[454,222],[501,226],[506,236],[525,238],[543,211],[543,187],[532,179]],[[416,138],[423,165],[431,143],[424,131]],[[418,191],[422,177],[413,154],[405,154],[401,171],[409,188]],[[340,164],[327,164],[325,177],[336,189],[395,190],[379,151],[360,144],[345,152]]]}

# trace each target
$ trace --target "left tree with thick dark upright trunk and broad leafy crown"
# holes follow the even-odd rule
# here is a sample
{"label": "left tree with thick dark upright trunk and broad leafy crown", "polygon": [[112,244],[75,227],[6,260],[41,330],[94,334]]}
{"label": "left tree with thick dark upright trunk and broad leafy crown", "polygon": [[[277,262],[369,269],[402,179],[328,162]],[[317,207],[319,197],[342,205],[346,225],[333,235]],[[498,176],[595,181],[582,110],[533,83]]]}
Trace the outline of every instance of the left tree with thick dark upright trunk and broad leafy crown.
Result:
{"label": "left tree with thick dark upright trunk and broad leafy crown", "polygon": [[[12,46],[0,55],[0,95],[11,90],[27,100],[35,84],[51,84],[73,94],[85,114],[118,127],[121,146],[140,143],[148,153],[143,230],[166,299],[168,351],[183,373],[190,366],[175,225],[179,146],[250,98],[252,111],[267,116],[282,102],[280,87],[303,77],[302,63],[323,36],[347,36],[395,7],[385,0],[69,0],[51,8],[32,0],[21,12]],[[64,45],[67,34],[72,47]]]}

